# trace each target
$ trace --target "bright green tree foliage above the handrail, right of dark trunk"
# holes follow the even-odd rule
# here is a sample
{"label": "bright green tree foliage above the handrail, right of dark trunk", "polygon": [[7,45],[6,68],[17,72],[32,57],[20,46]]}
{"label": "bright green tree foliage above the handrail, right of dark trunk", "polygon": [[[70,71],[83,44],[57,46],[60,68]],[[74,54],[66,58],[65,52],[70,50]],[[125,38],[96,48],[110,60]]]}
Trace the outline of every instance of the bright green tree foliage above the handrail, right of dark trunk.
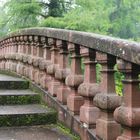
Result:
{"label": "bright green tree foliage above the handrail, right of dark trunk", "polygon": [[75,4],[63,17],[49,17],[40,25],[139,41],[139,0],[76,0]]}

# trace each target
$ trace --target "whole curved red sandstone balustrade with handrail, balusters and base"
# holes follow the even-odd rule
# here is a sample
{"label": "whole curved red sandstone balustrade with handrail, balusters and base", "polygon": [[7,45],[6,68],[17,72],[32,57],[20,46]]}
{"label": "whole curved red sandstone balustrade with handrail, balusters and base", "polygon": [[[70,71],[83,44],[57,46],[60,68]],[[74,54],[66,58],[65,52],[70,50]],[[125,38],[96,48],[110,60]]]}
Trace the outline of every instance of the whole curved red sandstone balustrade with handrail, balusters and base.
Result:
{"label": "whole curved red sandstone balustrade with handrail, balusters and base", "polygon": [[[102,66],[100,82],[97,63]],[[123,96],[115,90],[116,64],[125,77]],[[58,120],[82,140],[140,139],[140,43],[29,28],[0,40],[0,70],[24,76],[47,91],[54,101],[46,99],[48,104],[57,102]]]}

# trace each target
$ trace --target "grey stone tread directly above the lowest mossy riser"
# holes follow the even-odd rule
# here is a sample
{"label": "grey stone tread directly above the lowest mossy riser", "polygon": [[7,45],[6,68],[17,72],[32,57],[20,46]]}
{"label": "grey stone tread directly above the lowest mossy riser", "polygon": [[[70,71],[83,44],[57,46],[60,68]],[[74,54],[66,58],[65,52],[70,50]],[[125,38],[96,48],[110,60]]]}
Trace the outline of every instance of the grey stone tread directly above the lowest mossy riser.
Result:
{"label": "grey stone tread directly above the lowest mossy riser", "polygon": [[3,115],[24,115],[24,114],[43,114],[52,112],[51,109],[40,104],[29,105],[2,105],[0,106],[0,116]]}

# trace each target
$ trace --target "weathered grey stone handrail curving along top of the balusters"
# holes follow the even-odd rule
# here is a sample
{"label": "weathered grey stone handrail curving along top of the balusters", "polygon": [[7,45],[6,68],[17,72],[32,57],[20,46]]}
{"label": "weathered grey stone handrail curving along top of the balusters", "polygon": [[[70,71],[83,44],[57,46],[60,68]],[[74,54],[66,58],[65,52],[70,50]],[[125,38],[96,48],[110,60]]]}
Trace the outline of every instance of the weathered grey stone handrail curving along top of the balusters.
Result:
{"label": "weathered grey stone handrail curving along top of the balusters", "polygon": [[117,39],[94,33],[79,32],[54,28],[27,28],[13,32],[0,41],[13,36],[37,35],[65,40],[84,47],[89,47],[104,53],[117,56],[126,61],[140,65],[140,43]]}

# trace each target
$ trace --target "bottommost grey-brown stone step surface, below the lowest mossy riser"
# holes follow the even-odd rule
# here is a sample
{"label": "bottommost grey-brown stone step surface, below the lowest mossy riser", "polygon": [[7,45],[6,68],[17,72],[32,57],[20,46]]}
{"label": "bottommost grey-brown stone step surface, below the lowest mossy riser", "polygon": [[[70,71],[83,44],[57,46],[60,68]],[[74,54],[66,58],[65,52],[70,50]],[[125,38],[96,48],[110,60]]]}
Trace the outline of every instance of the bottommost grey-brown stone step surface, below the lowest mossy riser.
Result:
{"label": "bottommost grey-brown stone step surface, below the lowest mossy riser", "polygon": [[72,140],[54,126],[0,128],[0,140]]}

